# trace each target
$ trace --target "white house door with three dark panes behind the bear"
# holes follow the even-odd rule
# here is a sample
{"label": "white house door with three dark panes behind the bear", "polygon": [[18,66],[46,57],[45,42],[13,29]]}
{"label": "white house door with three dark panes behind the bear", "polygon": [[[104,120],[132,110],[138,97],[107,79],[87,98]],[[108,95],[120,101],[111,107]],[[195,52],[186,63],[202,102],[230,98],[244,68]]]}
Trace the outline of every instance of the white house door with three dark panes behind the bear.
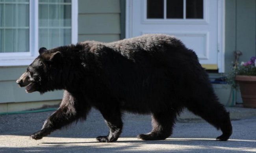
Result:
{"label": "white house door with three dark panes behind the bear", "polygon": [[206,69],[224,71],[224,0],[127,0],[126,38],[174,35],[193,49]]}

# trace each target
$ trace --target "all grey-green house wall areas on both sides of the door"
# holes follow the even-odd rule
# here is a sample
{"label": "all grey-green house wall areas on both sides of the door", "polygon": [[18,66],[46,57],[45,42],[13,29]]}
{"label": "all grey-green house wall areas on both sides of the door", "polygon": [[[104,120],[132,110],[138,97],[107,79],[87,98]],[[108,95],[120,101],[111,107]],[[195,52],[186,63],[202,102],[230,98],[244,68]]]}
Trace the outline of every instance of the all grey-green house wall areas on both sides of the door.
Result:
{"label": "all grey-green house wall areas on both sides of the door", "polygon": [[[78,0],[78,41],[96,40],[111,42],[124,38],[124,0]],[[240,61],[247,61],[255,56],[256,40],[256,0],[226,0],[225,6],[225,70],[228,72],[234,60],[233,51],[241,50]],[[122,18],[121,18],[122,16]],[[122,29],[122,30],[121,30]],[[22,67],[0,67],[0,112],[28,109],[18,105],[17,109],[10,108],[13,104],[28,104],[38,102],[56,104],[60,102],[63,91],[45,93],[25,93],[19,88],[16,79],[26,70]],[[39,105],[39,102],[43,102]]]}

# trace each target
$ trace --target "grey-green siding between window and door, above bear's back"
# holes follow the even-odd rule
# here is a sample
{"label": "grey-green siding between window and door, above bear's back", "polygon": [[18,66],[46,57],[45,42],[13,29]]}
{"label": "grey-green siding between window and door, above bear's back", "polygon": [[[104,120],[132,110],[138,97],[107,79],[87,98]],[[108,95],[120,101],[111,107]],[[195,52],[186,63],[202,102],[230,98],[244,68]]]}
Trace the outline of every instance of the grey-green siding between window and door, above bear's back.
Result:
{"label": "grey-green siding between window and door, above bear's back", "polygon": [[78,41],[120,40],[120,0],[79,0]]}

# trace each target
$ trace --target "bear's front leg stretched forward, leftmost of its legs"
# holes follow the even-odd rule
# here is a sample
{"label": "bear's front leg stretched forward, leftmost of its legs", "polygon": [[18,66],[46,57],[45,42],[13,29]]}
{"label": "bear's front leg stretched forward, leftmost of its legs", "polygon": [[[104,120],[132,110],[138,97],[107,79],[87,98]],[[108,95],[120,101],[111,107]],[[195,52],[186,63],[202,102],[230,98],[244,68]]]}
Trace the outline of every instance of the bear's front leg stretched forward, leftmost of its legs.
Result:
{"label": "bear's front leg stretched forward, leftmost of its legs", "polygon": [[83,105],[84,102],[78,101],[68,91],[64,91],[64,96],[58,110],[45,121],[40,131],[33,133],[30,137],[39,140],[79,118],[85,119],[91,107]]}

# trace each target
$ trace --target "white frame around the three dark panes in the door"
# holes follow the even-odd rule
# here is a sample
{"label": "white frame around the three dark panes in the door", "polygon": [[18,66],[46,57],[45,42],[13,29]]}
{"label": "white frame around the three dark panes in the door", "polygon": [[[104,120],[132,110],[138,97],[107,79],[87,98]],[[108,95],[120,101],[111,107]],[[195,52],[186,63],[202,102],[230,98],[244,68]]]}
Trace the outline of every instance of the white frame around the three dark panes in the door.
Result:
{"label": "white frame around the three dark panes in the door", "polygon": [[203,0],[203,18],[202,19],[193,19],[193,18],[186,18],[186,0],[183,0],[183,18],[180,19],[172,19],[166,18],[166,4],[167,1],[163,0],[163,18],[154,19],[154,18],[147,18],[147,0],[141,1],[143,4],[141,5],[142,8],[142,23],[143,24],[208,24],[209,17],[208,17],[208,0]]}

